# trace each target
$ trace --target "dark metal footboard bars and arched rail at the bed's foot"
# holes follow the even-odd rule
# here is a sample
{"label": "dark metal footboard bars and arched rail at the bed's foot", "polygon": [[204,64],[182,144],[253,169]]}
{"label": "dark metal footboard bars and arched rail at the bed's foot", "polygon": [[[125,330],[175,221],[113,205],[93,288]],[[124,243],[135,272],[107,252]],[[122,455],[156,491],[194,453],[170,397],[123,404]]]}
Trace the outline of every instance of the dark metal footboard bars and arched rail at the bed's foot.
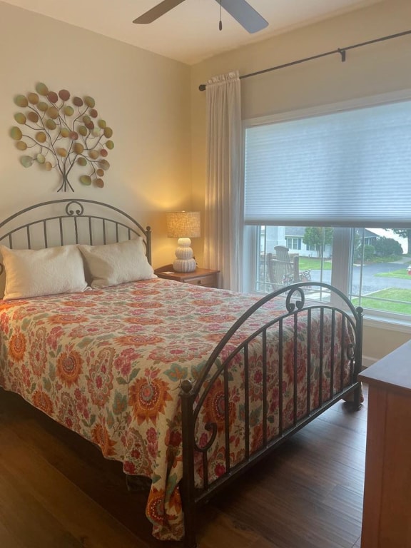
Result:
{"label": "dark metal footboard bars and arched rail at the bed's foot", "polygon": [[[330,303],[315,303],[313,301],[308,301],[306,294],[308,296],[313,293],[324,293],[330,296]],[[262,325],[258,330],[250,335],[247,340],[244,340],[239,345],[235,347],[234,350],[230,352],[230,355],[223,361],[218,361],[218,356],[225,347],[225,345],[230,343],[230,340],[233,338],[238,329],[245,323],[251,315],[258,312],[258,310],[268,303],[270,300],[273,300],[277,297],[285,298],[287,313],[283,315],[276,316],[270,322]],[[333,300],[338,299],[338,305],[331,304]],[[293,323],[295,325],[295,330],[293,332],[293,345],[295,348],[295,358],[293,363],[294,375],[297,375],[298,368],[298,359],[297,359],[297,344],[298,344],[298,316],[301,314],[308,315],[308,325],[310,326],[311,318],[315,310],[318,310],[320,313],[320,332],[323,333],[323,326],[325,320],[325,310],[330,310],[333,323],[333,334],[331,345],[335,344],[334,340],[335,333],[334,327],[336,325],[336,320],[338,315],[341,315],[342,325],[350,326],[352,332],[355,333],[355,344],[345,345],[345,352],[347,358],[350,360],[350,384],[343,387],[342,386],[342,377],[339,380],[340,388],[334,392],[331,389],[331,397],[328,399],[323,398],[323,393],[321,390],[322,385],[320,384],[320,401],[319,405],[313,409],[312,402],[310,401],[310,357],[308,357],[308,374],[307,374],[307,411],[302,418],[297,418],[297,402],[296,402],[296,383],[294,384],[294,409],[293,409],[293,425],[291,427],[285,428],[283,420],[283,397],[280,392],[279,395],[279,432],[278,435],[272,439],[267,439],[267,427],[268,427],[268,410],[267,410],[267,392],[268,386],[265,375],[263,375],[263,447],[256,451],[250,451],[250,440],[248,437],[245,437],[245,455],[241,462],[238,462],[235,467],[230,467],[230,445],[228,443],[228,367],[231,360],[235,359],[235,356],[241,353],[244,356],[244,375],[245,375],[245,419],[244,427],[245,432],[248,431],[248,385],[249,385],[249,373],[248,373],[248,349],[250,344],[252,344],[255,338],[261,338],[263,340],[263,347],[265,346],[265,341],[268,338],[268,332],[270,328],[277,325],[280,333],[280,342],[278,348],[278,358],[281,362],[283,358],[283,329],[285,329],[285,320],[287,318],[293,318]],[[342,329],[342,332],[344,328]],[[308,349],[307,354],[310,353],[310,338],[308,340]],[[269,452],[273,451],[280,444],[285,442],[290,436],[298,432],[300,428],[307,425],[309,422],[318,417],[321,413],[327,410],[329,407],[338,402],[338,400],[345,399],[350,402],[355,410],[360,409],[361,407],[361,385],[357,380],[357,376],[361,372],[361,355],[362,355],[362,308],[355,309],[350,301],[345,297],[343,293],[339,290],[333,288],[333,286],[326,283],[315,283],[315,282],[304,282],[296,283],[289,285],[286,288],[265,295],[262,299],[255,303],[247,312],[239,318],[232,328],[226,333],[223,339],[218,343],[217,347],[210,355],[208,362],[202,370],[201,377],[195,382],[190,380],[184,380],[181,383],[181,398],[182,398],[182,414],[183,414],[183,482],[182,482],[182,492],[183,492],[183,503],[184,503],[184,527],[185,527],[185,544],[186,548],[195,548],[196,544],[196,508],[207,502],[210,497],[213,497],[217,492],[220,491],[229,482],[233,481],[239,475],[242,475],[250,467],[255,465],[256,462],[260,461],[263,457],[268,455]],[[213,373],[212,380],[210,384],[204,387],[205,380],[210,374],[211,370],[215,369],[215,364],[218,364],[217,371]],[[331,360],[330,365],[330,385],[333,387],[333,380],[335,375],[335,370],[337,363],[334,360]],[[263,372],[266,372],[268,369],[268,357],[266,352],[263,352]],[[325,361],[323,357],[320,357],[320,377],[323,377],[323,371],[325,370]],[[341,367],[342,370],[342,367]],[[196,442],[196,420],[201,412],[201,407],[205,402],[205,398],[210,392],[213,382],[218,377],[223,377],[225,383],[225,392],[224,392],[224,406],[225,409],[225,435],[226,435],[226,446],[228,449],[225,450],[225,473],[224,475],[218,477],[218,480],[214,482],[208,482],[207,475],[205,470],[207,470],[208,455],[207,450],[213,444],[213,440],[216,436],[216,425],[208,424],[206,428],[212,432],[210,440],[205,447],[198,447]],[[279,368],[278,372],[278,385],[282,384],[282,370]],[[194,455],[196,452],[200,452],[203,456],[203,488],[196,488],[194,482],[194,470],[193,462]]]}

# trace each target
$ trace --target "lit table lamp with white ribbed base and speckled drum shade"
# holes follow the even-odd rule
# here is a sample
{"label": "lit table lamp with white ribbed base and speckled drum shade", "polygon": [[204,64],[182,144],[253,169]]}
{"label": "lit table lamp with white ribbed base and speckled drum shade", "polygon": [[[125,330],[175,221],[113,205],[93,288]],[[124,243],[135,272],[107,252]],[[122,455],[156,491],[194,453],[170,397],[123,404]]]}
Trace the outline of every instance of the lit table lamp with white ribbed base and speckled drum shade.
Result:
{"label": "lit table lamp with white ribbed base and speckled drum shade", "polygon": [[176,260],[173,268],[176,272],[193,272],[196,259],[193,258],[191,239],[200,237],[200,211],[172,211],[167,213],[168,238],[178,238]]}

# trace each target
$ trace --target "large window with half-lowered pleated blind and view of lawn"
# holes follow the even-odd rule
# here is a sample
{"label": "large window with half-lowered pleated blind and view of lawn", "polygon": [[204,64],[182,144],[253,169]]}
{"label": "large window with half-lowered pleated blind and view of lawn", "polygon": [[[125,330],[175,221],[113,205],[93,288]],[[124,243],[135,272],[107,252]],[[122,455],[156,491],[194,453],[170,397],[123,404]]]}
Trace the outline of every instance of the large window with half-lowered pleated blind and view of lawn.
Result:
{"label": "large window with half-lowered pleated blind and view of lawn", "polygon": [[246,124],[244,290],[276,288],[267,257],[285,245],[300,279],[411,321],[411,101],[382,99]]}

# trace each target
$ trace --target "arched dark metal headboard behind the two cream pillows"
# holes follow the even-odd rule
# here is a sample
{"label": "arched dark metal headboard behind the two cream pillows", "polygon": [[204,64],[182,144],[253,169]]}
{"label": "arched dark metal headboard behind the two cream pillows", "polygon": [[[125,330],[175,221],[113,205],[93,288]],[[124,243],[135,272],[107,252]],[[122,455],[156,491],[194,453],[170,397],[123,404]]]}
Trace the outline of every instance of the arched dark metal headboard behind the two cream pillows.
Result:
{"label": "arched dark metal headboard behind the two cream pillows", "polygon": [[[20,224],[26,215],[27,221]],[[143,238],[151,264],[151,228],[144,229],[131,215],[107,203],[71,199],[36,203],[0,223],[0,243],[11,249],[99,245],[130,240],[134,235]],[[0,273],[2,270],[0,263]]]}

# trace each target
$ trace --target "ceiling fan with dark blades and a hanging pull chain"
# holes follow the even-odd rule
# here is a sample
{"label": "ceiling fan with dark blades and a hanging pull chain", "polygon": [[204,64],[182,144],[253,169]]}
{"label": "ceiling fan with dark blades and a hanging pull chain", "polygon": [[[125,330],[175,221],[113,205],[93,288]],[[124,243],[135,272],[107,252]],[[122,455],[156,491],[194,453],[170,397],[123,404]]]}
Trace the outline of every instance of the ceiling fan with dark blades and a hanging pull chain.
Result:
{"label": "ceiling fan with dark blades and a hanging pull chain", "polygon": [[[133,23],[138,24],[148,24],[156,21],[159,17],[166,14],[171,9],[178,6],[185,0],[163,0],[157,6],[146,11],[145,14],[134,19]],[[268,21],[260,16],[258,11],[248,4],[245,0],[215,0],[221,8],[228,11],[230,16],[232,16],[235,21],[238,21],[244,29],[250,33],[261,31],[268,26]],[[220,21],[220,30],[221,30],[221,21]]]}

